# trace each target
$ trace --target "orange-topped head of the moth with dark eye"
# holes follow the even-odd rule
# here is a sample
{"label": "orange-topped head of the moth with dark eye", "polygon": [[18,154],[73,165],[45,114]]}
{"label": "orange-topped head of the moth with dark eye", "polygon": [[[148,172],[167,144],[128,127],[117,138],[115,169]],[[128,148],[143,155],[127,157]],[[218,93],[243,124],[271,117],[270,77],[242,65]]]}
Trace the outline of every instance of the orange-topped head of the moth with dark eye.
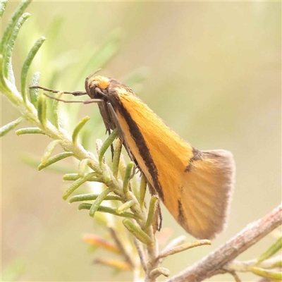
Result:
{"label": "orange-topped head of the moth with dark eye", "polygon": [[104,95],[107,93],[106,88],[109,85],[109,78],[101,75],[95,76],[94,78],[89,78],[85,81],[86,92],[92,99],[104,98]]}

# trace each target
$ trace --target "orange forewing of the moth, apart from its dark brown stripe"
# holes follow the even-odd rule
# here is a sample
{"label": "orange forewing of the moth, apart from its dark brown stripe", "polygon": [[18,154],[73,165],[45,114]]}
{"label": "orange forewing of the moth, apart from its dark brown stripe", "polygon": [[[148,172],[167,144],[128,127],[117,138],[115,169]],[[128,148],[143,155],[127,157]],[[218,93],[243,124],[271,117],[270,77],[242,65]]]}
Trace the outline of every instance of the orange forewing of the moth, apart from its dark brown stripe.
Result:
{"label": "orange forewing of the moth, apart from its dark brown stripe", "polygon": [[[232,154],[225,150],[198,151],[139,98],[124,90],[118,97],[145,139],[168,211],[188,233],[197,238],[214,238],[226,221],[235,168]],[[128,121],[121,112],[116,114],[130,151],[154,188],[154,176],[148,171]]]}

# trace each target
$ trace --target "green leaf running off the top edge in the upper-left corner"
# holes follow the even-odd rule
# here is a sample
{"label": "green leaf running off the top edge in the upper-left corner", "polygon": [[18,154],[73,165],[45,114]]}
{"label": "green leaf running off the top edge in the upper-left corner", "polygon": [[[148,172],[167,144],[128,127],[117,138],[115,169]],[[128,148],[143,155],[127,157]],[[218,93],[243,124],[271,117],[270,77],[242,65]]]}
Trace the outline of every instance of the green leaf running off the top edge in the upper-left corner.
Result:
{"label": "green leaf running off the top edge in the upper-left corner", "polygon": [[[20,16],[23,15],[23,11],[25,11],[25,8],[27,8],[27,6],[30,4],[31,1],[32,0],[23,0],[23,1],[21,1],[20,5],[16,9],[15,13],[13,13],[13,16],[12,16],[11,20],[9,20],[8,25],[7,25],[6,29],[3,32],[2,39],[1,39],[1,48],[0,48],[1,54],[5,53],[6,45],[8,44],[8,40],[11,37],[13,29],[14,29],[15,25],[18,23],[18,19],[20,18]],[[6,6],[5,2],[6,1],[2,1],[1,0],[1,3],[4,3],[3,4],[4,6]],[[4,6],[2,6],[2,4],[1,4],[1,9]]]}

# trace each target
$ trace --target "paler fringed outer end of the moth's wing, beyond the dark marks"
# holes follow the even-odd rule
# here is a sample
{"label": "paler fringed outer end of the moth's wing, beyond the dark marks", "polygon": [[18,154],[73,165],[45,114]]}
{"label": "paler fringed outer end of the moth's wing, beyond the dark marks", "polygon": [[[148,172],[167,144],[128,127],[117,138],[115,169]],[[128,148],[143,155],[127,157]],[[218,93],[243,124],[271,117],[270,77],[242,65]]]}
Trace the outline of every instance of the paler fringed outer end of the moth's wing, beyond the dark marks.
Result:
{"label": "paler fringed outer end of the moth's wing, beyond the dark marks", "polygon": [[226,150],[201,151],[183,172],[178,223],[196,238],[212,239],[223,231],[233,194],[235,164]]}

